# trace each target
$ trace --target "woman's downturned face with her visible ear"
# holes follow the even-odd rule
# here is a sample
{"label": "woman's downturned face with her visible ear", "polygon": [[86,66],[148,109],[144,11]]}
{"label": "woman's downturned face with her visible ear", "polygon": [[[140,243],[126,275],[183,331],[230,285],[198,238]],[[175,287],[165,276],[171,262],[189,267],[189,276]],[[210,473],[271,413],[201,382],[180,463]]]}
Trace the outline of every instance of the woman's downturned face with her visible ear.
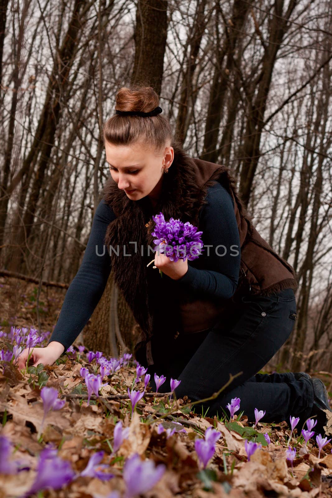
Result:
{"label": "woman's downturned face with her visible ear", "polygon": [[149,196],[152,202],[158,200],[164,169],[174,159],[174,149],[169,143],[158,155],[142,142],[133,145],[105,142],[105,151],[111,177],[129,199],[138,201]]}

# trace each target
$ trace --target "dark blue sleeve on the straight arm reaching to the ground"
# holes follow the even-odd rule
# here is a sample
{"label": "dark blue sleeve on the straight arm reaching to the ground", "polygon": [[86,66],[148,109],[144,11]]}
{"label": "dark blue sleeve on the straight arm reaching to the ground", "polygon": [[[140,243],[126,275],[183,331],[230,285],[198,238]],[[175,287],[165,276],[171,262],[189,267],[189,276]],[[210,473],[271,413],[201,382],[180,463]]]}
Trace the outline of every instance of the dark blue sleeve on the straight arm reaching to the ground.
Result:
{"label": "dark blue sleeve on the straight arm reaching to the ground", "polygon": [[102,199],[96,209],[81,266],[66,292],[59,319],[47,344],[57,341],[67,351],[99,303],[111,272],[111,258],[104,237],[114,219],[113,210]]}

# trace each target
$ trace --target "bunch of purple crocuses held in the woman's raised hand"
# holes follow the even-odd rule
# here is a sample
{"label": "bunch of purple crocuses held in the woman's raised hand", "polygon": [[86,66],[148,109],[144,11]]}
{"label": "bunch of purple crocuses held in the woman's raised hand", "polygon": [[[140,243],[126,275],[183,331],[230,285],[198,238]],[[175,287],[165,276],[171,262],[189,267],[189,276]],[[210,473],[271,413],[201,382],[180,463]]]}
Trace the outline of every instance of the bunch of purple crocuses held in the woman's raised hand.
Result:
{"label": "bunch of purple crocuses held in the woman's raised hand", "polygon": [[[185,261],[186,258],[193,261],[205,250],[201,240],[203,232],[197,232],[197,227],[191,223],[183,223],[180,220],[174,220],[174,218],[166,222],[161,212],[152,218],[156,224],[154,232],[152,232],[152,235],[156,237],[153,241],[156,244],[154,250],[159,248],[159,252],[164,253],[171,261],[176,262],[178,259]],[[152,262],[154,259],[149,264]]]}

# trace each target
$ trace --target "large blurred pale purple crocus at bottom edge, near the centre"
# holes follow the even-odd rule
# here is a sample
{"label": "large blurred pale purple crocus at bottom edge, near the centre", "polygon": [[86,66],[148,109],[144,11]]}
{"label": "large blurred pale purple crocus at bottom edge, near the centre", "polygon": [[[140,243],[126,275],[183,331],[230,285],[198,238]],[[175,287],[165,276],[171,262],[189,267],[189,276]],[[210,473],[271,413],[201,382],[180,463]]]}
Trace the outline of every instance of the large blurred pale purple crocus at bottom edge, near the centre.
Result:
{"label": "large blurred pale purple crocus at bottom edge, near the centre", "polygon": [[128,458],[123,465],[123,481],[126,485],[124,498],[133,498],[151,490],[161,479],[166,466],[155,467],[152,460],[142,461],[137,453]]}

